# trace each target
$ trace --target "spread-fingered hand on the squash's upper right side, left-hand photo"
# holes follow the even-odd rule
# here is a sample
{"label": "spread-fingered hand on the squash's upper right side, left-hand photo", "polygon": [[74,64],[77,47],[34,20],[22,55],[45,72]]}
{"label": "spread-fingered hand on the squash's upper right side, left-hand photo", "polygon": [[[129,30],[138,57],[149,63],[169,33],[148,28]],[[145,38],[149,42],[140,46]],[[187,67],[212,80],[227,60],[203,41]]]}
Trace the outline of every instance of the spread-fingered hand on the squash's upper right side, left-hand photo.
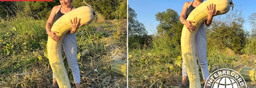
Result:
{"label": "spread-fingered hand on the squash's upper right side, left-hand photo", "polygon": [[75,17],[73,21],[70,19],[70,23],[71,23],[71,27],[72,27],[72,29],[70,31],[71,34],[74,34],[75,32],[77,32],[77,28],[84,25],[84,24],[80,24],[80,20],[81,19],[79,18],[79,20],[77,21],[77,17]]}

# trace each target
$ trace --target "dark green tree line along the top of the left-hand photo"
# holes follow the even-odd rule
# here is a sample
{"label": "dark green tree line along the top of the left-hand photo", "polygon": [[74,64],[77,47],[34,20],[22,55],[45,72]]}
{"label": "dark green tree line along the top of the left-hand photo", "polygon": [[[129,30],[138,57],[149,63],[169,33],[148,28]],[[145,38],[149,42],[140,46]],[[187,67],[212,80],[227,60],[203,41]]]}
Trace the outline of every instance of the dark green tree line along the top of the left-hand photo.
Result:
{"label": "dark green tree line along the top of the left-hand photo", "polygon": [[[127,0],[85,0],[106,20],[126,19]],[[59,5],[59,0],[53,1],[0,1],[0,18],[16,16],[18,11],[29,13],[35,19],[47,19],[52,8]],[[86,6],[83,0],[72,0],[76,8]],[[27,15],[26,14],[26,15]]]}

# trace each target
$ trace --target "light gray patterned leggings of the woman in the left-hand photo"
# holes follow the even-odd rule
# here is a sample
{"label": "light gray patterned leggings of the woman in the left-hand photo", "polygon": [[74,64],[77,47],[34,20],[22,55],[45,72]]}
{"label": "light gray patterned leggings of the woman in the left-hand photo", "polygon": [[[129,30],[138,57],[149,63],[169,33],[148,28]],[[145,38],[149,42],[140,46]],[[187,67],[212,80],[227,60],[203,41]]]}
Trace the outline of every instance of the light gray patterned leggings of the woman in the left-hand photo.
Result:
{"label": "light gray patterned leggings of the woman in the left-hand photo", "polygon": [[[73,78],[75,83],[80,83],[80,71],[79,66],[77,64],[77,39],[76,39],[76,33],[70,34],[68,32],[62,41],[62,47],[61,52],[65,52],[69,67],[72,71]],[[53,74],[53,78],[55,78]]]}

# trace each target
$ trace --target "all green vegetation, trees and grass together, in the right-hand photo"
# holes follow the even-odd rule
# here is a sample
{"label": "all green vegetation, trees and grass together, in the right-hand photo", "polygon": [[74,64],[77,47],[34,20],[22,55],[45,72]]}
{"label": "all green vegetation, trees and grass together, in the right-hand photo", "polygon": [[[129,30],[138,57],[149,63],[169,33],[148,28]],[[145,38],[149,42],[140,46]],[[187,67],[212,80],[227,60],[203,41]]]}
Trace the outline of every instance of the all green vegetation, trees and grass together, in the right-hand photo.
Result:
{"label": "all green vegetation, trees and grass together, in the right-hand photo", "polygon": [[[129,14],[130,12],[135,13],[132,8],[129,8]],[[241,13],[242,10],[234,9],[223,16],[215,16],[211,26],[206,27],[210,73],[220,68],[231,68],[238,72],[245,67],[255,68],[255,26],[251,33],[244,30],[243,23],[247,20],[244,20]],[[179,22],[179,15],[173,9],[156,13],[155,18],[159,25],[154,35],[147,35],[144,26],[136,26],[141,24],[139,22],[129,25],[134,27],[129,30],[129,34],[142,32],[129,35],[130,88],[171,88],[182,81],[180,38],[183,24]],[[252,13],[249,21],[255,25],[255,13]],[[129,18],[130,23],[133,21]],[[203,85],[200,68],[199,74]],[[247,81],[248,87],[255,85],[256,83]]]}

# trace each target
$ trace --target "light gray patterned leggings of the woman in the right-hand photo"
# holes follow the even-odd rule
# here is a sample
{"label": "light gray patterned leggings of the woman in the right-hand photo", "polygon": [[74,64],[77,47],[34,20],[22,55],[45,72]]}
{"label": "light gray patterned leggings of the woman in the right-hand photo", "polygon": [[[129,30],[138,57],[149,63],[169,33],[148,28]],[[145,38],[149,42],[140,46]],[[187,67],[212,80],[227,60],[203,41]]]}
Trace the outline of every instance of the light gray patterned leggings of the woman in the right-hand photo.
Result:
{"label": "light gray patterned leggings of the woman in the right-hand photo", "polygon": [[[206,39],[206,29],[204,24],[202,24],[196,35],[195,35],[195,50],[196,56],[203,73],[203,79],[206,80],[209,76],[208,62],[207,62],[207,39]],[[182,62],[182,76],[187,76],[187,71]]]}

